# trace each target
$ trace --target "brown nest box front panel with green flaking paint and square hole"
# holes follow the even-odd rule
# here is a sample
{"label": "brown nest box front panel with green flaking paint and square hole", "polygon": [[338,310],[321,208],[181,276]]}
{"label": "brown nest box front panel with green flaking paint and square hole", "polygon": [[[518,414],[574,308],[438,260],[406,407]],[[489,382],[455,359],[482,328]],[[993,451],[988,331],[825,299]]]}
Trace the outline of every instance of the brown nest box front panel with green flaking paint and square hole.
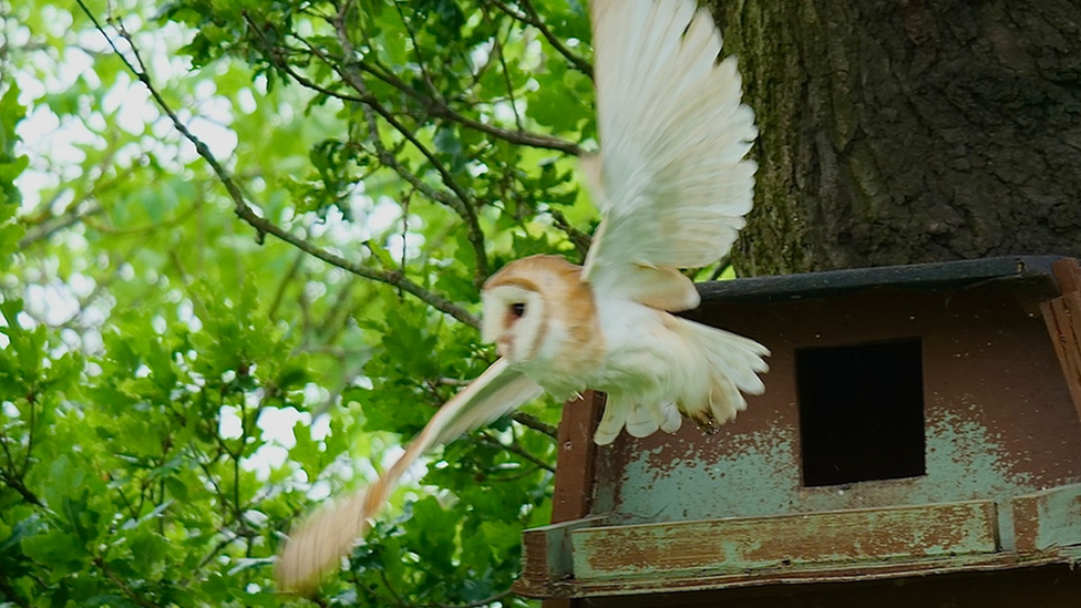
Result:
{"label": "brown nest box front panel with green flaking paint and square hole", "polygon": [[712,436],[687,424],[599,449],[591,511],[611,523],[753,517],[1079,482],[1081,422],[1022,301],[987,285],[700,309],[773,351],[766,393]]}

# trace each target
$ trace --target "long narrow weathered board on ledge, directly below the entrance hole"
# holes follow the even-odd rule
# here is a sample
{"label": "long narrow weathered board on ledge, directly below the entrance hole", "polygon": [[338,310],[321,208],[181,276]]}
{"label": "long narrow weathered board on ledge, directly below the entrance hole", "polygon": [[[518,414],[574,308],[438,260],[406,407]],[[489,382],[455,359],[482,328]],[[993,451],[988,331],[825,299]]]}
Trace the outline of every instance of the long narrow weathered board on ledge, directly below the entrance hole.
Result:
{"label": "long narrow weathered board on ledge, directly below the entrance hole", "polygon": [[579,580],[994,553],[992,501],[570,533]]}

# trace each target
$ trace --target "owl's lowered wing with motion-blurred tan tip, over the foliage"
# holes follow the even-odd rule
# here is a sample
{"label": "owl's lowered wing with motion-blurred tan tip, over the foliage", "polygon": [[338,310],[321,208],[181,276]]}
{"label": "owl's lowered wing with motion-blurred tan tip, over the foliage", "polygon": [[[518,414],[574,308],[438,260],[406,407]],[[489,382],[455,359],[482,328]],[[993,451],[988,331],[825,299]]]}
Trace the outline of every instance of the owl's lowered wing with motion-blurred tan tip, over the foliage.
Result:
{"label": "owl's lowered wing with motion-blurred tan tip, over the foliage", "polygon": [[434,446],[482,426],[544,392],[534,381],[500,359],[432,416],[405,453],[366,491],[328,505],[290,533],[278,560],[284,589],[310,589],[337,567],[369,519],[387,502],[399,478],[418,457]]}

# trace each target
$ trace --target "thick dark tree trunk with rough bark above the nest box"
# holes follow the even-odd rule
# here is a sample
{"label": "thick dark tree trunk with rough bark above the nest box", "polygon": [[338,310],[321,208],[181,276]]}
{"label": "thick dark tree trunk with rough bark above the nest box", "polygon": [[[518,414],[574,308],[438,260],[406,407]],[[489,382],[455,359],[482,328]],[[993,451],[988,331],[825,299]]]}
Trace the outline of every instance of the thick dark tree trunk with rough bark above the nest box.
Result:
{"label": "thick dark tree trunk with rough bark above the nest box", "polygon": [[711,0],[758,113],[743,275],[1081,256],[1078,0]]}

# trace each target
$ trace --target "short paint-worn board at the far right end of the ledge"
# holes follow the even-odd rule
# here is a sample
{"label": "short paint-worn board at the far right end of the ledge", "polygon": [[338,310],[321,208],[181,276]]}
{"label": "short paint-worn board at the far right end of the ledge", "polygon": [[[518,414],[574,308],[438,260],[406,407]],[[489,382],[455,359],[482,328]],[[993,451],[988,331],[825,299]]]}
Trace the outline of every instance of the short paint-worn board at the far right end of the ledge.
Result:
{"label": "short paint-worn board at the far right end of the ledge", "polygon": [[1081,484],[1013,498],[1013,528],[1022,556],[1081,545]]}

